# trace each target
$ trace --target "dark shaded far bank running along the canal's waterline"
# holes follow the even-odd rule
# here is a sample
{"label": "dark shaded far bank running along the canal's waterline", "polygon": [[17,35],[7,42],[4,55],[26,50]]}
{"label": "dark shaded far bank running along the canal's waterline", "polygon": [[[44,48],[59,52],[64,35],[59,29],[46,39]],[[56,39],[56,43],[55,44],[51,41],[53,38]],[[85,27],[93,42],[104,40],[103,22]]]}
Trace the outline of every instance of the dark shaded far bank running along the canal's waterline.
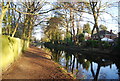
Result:
{"label": "dark shaded far bank running along the canal's waterline", "polygon": [[87,55],[104,55],[104,56],[115,56],[120,57],[119,53],[114,52],[112,49],[99,49],[99,48],[90,48],[90,47],[82,47],[82,46],[66,46],[60,44],[44,44],[43,47],[47,47],[50,49],[57,49],[61,51],[71,51],[71,52],[81,52]]}

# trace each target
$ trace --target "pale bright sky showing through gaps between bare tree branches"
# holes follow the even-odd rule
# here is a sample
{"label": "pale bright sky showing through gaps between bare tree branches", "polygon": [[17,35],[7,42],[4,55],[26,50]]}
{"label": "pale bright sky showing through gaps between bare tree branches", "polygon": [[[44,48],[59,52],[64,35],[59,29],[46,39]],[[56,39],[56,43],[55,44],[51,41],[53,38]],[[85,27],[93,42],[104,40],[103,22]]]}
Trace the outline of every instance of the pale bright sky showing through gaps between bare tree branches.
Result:
{"label": "pale bright sky showing through gaps between bare tree branches", "polygon": [[[56,0],[54,0],[54,1],[56,1]],[[53,2],[54,2],[53,1]],[[119,1],[119,0],[103,0],[103,3],[104,2],[110,2],[110,3],[112,3],[112,2],[117,2],[117,1]],[[116,6],[118,6],[118,4],[116,4]],[[45,8],[49,8],[50,6],[48,5],[48,6],[46,6]],[[117,34],[118,33],[118,7],[112,7],[112,8],[108,8],[108,9],[106,9],[106,11],[108,11],[109,13],[111,13],[112,14],[112,16],[114,16],[114,18],[115,19],[117,19],[117,20],[114,20],[109,14],[106,14],[106,13],[104,13],[104,14],[102,14],[101,15],[101,18],[104,18],[104,20],[106,21],[106,22],[102,22],[102,21],[99,21],[99,25],[100,24],[103,24],[103,25],[105,25],[106,27],[107,27],[107,30],[108,31],[110,31],[110,30],[113,30],[113,32],[115,33],[115,34]],[[51,14],[50,14],[51,15]],[[88,17],[88,18],[90,18],[90,20],[93,20],[93,16],[91,16],[91,15],[89,15],[89,14],[86,14],[86,13],[84,13],[83,14],[83,16],[84,17]],[[86,19],[84,19],[84,20],[86,20]],[[92,22],[94,22],[94,21],[92,21]],[[81,22],[81,25],[83,26],[84,24],[86,24],[87,22]],[[90,26],[91,26],[91,28],[93,27],[93,24],[90,24]],[[41,29],[39,29],[39,30],[36,30],[38,33],[36,33],[34,36],[37,38],[37,39],[41,39],[41,37],[42,37],[42,30]]]}

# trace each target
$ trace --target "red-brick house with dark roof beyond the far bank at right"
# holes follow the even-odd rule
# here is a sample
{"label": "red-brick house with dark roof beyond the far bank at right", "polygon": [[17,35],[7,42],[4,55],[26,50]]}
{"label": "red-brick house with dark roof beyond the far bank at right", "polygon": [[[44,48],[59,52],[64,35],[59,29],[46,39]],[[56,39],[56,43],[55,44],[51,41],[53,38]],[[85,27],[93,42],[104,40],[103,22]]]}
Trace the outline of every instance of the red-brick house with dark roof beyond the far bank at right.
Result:
{"label": "red-brick house with dark roof beyond the far bank at right", "polygon": [[[112,30],[110,30],[110,31],[101,30],[101,31],[99,32],[99,34],[100,34],[101,39],[104,38],[104,37],[107,37],[107,38],[109,38],[109,39],[115,39],[115,38],[117,37],[117,34],[114,34],[114,33],[112,32]],[[96,33],[96,34],[93,34],[93,38],[94,38],[94,39],[98,39],[97,33]]]}

